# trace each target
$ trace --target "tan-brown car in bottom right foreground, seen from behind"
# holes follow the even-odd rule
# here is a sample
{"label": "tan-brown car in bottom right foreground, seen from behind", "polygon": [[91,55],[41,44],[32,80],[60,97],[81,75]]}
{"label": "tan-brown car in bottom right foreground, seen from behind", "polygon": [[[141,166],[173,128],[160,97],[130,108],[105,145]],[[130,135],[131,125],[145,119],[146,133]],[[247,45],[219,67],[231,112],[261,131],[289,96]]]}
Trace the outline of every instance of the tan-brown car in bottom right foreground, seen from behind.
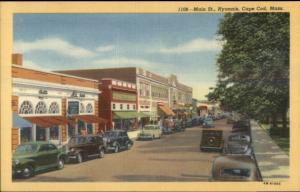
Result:
{"label": "tan-brown car in bottom right foreground, seen from behind", "polygon": [[261,177],[251,157],[222,155],[213,161],[210,181],[261,181]]}

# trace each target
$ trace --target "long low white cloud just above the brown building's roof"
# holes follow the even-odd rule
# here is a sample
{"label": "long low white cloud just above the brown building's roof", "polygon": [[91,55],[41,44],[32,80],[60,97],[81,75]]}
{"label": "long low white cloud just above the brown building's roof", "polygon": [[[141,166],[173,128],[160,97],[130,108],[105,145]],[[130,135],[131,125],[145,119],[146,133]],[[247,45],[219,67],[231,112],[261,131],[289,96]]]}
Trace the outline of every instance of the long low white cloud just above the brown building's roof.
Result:
{"label": "long low white cloud just above the brown building's roof", "polygon": [[128,58],[128,57],[113,57],[104,58],[93,61],[93,64],[99,65],[99,67],[142,67],[153,69],[160,66],[170,65],[168,63],[153,62],[139,58]]}

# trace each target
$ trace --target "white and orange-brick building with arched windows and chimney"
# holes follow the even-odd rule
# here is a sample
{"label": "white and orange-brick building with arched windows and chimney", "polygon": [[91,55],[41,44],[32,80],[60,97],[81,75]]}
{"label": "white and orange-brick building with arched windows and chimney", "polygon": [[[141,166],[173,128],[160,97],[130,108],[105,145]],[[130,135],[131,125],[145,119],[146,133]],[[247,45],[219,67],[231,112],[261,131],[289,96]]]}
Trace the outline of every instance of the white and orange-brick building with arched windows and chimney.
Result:
{"label": "white and orange-brick building with arched windows and chimney", "polygon": [[26,68],[21,54],[12,59],[13,150],[27,141],[61,145],[99,131],[97,80]]}

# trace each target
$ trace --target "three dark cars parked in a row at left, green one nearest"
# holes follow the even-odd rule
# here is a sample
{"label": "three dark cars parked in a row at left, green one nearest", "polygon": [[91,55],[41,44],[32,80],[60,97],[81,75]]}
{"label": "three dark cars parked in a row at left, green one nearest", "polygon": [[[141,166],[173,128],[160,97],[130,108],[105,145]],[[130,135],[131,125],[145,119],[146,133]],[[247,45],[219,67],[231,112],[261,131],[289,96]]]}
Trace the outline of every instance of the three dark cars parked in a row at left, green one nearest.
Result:
{"label": "three dark cars parked in a row at left, green one nearest", "polygon": [[81,163],[91,157],[103,158],[107,152],[128,150],[133,141],[124,130],[111,130],[104,135],[78,135],[68,144],[58,148],[45,141],[19,145],[12,159],[13,177],[29,178],[35,173],[49,169],[63,169],[67,162]]}

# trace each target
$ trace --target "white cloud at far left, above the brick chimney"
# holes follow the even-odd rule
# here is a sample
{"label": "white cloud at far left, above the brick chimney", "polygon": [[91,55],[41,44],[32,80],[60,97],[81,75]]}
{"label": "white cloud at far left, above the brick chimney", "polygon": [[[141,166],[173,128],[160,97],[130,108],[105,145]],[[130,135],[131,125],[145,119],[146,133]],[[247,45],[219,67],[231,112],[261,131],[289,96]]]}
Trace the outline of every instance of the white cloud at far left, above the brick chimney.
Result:
{"label": "white cloud at far left, above the brick chimney", "polygon": [[33,42],[16,41],[14,43],[14,51],[19,53],[31,51],[53,51],[58,54],[75,58],[95,55],[94,52],[88,49],[76,46],[68,41],[56,37],[38,39]]}

